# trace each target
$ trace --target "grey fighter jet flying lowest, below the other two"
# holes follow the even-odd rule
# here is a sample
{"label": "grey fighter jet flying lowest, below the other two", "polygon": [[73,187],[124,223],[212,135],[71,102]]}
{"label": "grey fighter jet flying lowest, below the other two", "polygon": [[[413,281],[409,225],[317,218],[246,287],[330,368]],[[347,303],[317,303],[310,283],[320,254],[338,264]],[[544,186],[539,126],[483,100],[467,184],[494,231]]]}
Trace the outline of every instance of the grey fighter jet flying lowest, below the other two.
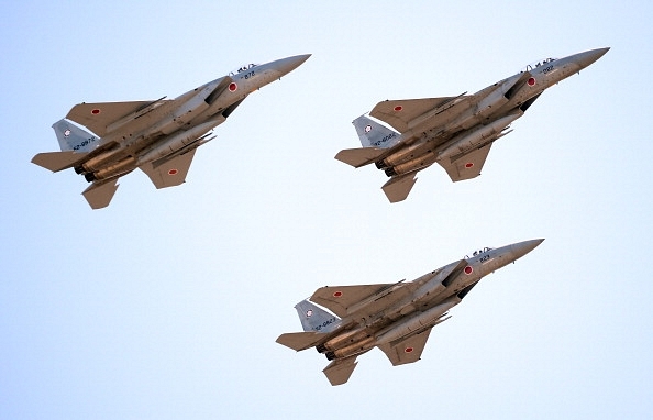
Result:
{"label": "grey fighter jet flying lowest, below the other two", "polygon": [[513,263],[542,241],[475,251],[472,257],[410,283],[322,287],[295,306],[303,332],[281,334],[277,343],[298,352],[316,347],[324,354],[331,361],[323,371],[331,385],[346,383],[356,357],[374,347],[394,366],[417,362],[431,329],[450,319],[449,310],[484,276]]}

